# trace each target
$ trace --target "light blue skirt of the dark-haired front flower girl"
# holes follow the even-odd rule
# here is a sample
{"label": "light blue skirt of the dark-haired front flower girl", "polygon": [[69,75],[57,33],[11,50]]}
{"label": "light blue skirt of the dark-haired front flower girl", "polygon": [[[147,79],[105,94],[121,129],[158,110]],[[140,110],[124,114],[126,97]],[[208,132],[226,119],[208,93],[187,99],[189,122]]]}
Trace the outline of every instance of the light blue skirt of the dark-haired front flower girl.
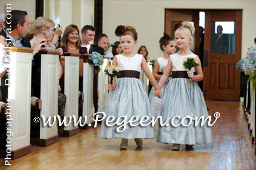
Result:
{"label": "light blue skirt of the dark-haired front flower girl", "polygon": [[[137,115],[139,117],[137,122],[133,122],[133,125],[137,124],[142,116],[149,116],[148,122],[143,122],[143,125],[148,124],[152,116],[148,95],[140,79],[130,77],[118,78],[115,85],[115,89],[108,93],[105,101],[104,112],[106,113],[106,118],[108,116],[115,116],[114,121],[109,124],[112,125],[119,116],[125,115],[128,115],[126,121],[130,120],[131,116]],[[123,132],[117,132],[116,129],[123,124],[108,127],[106,125],[106,118],[102,121],[101,138],[154,138],[154,127],[152,125],[145,127],[137,125],[133,127],[127,124]],[[122,122],[122,120],[119,122]],[[122,129],[123,127],[119,130],[122,131]]]}

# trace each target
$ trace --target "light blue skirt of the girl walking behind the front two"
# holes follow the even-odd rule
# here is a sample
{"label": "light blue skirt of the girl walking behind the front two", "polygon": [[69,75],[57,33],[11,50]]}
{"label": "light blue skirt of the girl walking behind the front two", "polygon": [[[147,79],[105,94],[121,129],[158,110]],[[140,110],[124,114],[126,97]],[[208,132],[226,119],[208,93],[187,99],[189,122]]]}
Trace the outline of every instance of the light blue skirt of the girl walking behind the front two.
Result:
{"label": "light blue skirt of the girl walking behind the front two", "polygon": [[[164,93],[163,93],[164,89],[170,80],[172,80],[172,77],[169,77],[167,79],[166,83],[161,88],[162,96],[164,95]],[[157,83],[158,82],[159,82],[159,79],[157,79]],[[148,98],[149,98],[149,103],[150,103],[151,114],[152,114],[152,116],[154,116],[156,118],[157,116],[160,116],[162,99],[159,99],[157,96],[154,97],[154,93],[153,93],[154,90],[155,90],[155,88],[152,87],[151,91],[148,95]]]}

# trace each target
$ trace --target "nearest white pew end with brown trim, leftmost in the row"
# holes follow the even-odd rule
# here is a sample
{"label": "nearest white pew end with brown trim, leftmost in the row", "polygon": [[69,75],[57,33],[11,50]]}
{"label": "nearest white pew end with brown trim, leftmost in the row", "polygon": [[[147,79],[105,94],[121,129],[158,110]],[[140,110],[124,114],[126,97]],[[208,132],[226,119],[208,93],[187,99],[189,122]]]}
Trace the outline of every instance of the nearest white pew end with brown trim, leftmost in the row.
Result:
{"label": "nearest white pew end with brown trim, leftmost in the row", "polygon": [[[9,49],[7,49],[9,50]],[[31,67],[33,50],[26,47],[11,47],[10,85],[8,85],[8,100],[11,106],[8,112],[12,116],[13,132],[11,140],[11,157],[17,159],[31,153],[30,144],[30,105],[31,105]],[[8,72],[7,72],[8,73]],[[8,77],[7,77],[8,78]],[[7,106],[8,103],[7,103]]]}

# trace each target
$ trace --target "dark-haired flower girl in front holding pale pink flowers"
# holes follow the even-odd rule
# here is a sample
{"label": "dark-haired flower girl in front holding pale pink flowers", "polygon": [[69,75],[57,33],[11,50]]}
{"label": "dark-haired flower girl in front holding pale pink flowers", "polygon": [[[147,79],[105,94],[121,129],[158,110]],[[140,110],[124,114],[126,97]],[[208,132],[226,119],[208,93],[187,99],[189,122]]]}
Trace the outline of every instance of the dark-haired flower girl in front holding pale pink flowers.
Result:
{"label": "dark-haired flower girl in front holding pale pink flowers", "polygon": [[[119,116],[128,115],[127,120],[132,116],[138,116],[139,120],[142,116],[151,118],[148,96],[143,83],[139,79],[141,68],[154,88],[156,88],[157,96],[161,97],[162,93],[146,64],[145,58],[133,51],[134,46],[137,44],[137,32],[134,27],[117,26],[115,34],[120,37],[123,53],[116,55],[113,59],[113,65],[118,65],[121,71],[119,71],[120,75],[117,76],[117,79],[113,80],[113,85],[108,85],[110,92],[105,101],[104,109],[106,117],[114,116],[117,119]],[[148,122],[143,124],[146,125]],[[136,123],[134,122],[133,125]],[[127,148],[128,139],[135,139],[137,146],[141,147],[143,145],[142,138],[154,138],[154,128],[151,125],[145,127],[127,125],[121,133],[117,132],[117,128],[117,125],[108,127],[104,119],[100,137],[122,138],[121,149]]]}

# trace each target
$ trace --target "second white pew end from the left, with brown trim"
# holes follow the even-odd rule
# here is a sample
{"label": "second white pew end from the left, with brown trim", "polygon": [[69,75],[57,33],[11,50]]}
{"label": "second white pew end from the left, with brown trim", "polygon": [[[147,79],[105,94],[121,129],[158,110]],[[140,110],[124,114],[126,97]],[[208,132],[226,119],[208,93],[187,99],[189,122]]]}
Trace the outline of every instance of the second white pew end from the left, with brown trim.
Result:
{"label": "second white pew end from the left, with brown trim", "polygon": [[[46,119],[49,116],[58,115],[58,55],[59,51],[41,50],[41,116]],[[58,121],[58,119],[56,119]],[[58,142],[58,123],[52,127],[43,126],[40,121],[40,146],[48,146]]]}

